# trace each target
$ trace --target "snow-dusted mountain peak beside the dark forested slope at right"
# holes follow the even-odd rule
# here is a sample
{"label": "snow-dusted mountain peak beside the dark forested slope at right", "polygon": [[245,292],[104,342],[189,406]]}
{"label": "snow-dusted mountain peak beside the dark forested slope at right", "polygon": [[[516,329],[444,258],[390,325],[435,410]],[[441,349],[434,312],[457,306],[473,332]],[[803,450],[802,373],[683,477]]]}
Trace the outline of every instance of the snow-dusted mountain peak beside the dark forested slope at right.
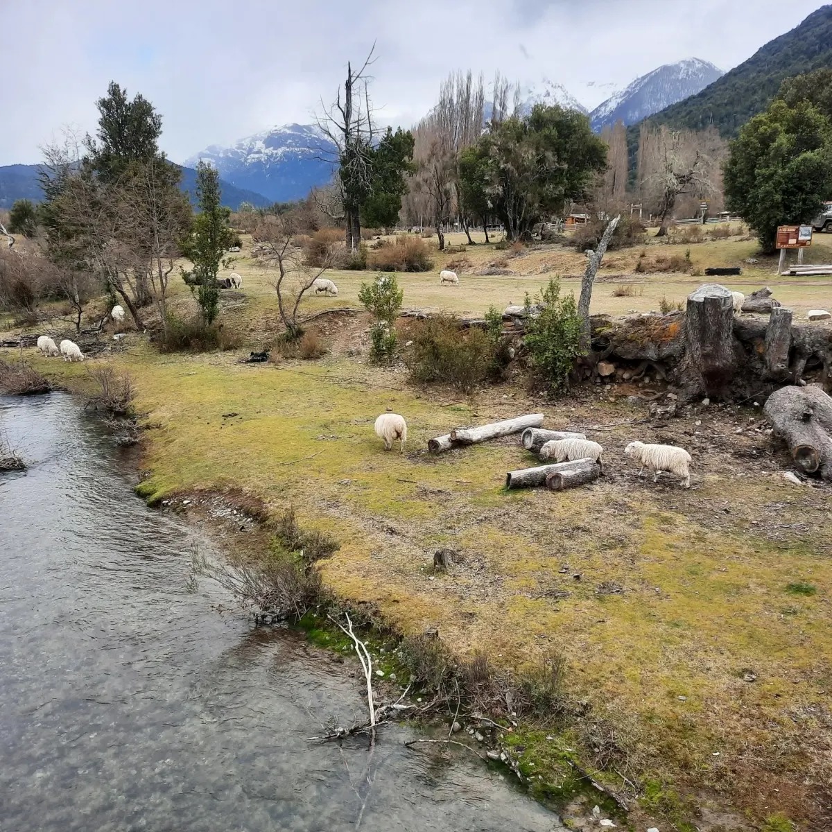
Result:
{"label": "snow-dusted mountain peak beside the dark forested slope at right", "polygon": [[723,74],[712,63],[696,57],[654,69],[597,106],[590,113],[592,129],[601,131],[617,121],[636,124],[666,106],[695,96]]}

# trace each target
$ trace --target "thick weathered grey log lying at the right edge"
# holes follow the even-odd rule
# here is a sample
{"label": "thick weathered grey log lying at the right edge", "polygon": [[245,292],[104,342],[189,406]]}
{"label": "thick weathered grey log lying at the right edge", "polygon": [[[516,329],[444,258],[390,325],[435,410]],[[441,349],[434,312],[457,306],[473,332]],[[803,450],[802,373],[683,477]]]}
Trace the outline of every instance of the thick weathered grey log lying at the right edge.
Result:
{"label": "thick weathered grey log lying at the right edge", "polygon": [[764,412],[795,463],[832,480],[832,398],[819,387],[783,387],[769,396]]}

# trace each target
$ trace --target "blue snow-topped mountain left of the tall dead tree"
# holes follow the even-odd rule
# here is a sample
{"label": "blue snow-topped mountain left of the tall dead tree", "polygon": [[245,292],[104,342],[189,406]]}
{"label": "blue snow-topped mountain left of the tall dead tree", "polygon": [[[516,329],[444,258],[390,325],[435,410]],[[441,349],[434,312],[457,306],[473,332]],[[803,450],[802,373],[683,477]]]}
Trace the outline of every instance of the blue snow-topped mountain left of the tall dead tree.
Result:
{"label": "blue snow-topped mountain left of the tall dead tree", "polygon": [[285,124],[240,139],[234,146],[211,145],[186,160],[209,162],[238,188],[257,191],[275,202],[304,199],[332,177],[334,147],[311,124]]}

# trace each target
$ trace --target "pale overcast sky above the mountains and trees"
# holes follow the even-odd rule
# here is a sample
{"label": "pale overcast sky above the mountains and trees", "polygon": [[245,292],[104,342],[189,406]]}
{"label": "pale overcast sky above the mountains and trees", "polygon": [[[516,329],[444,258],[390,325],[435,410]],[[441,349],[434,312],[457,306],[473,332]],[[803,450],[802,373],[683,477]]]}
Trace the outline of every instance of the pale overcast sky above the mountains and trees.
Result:
{"label": "pale overcast sky above the mountains and trees", "polygon": [[[0,165],[40,161],[64,126],[94,131],[116,80],[163,116],[174,161],[313,121],[376,42],[381,121],[410,126],[442,78],[497,69],[562,83],[585,106],[664,63],[728,70],[824,0],[0,0]],[[592,86],[596,85],[596,86]],[[607,85],[607,86],[603,86]]]}

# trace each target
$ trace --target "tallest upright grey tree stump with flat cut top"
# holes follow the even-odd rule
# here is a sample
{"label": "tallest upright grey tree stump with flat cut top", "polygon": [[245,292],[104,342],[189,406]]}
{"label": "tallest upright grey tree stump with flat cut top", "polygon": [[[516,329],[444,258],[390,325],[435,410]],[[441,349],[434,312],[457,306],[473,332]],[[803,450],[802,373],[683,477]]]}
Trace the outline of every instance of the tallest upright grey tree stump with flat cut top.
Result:
{"label": "tallest upright grey tree stump with flat cut top", "polygon": [[685,367],[689,394],[724,397],[734,379],[734,299],[725,286],[706,284],[687,298]]}

